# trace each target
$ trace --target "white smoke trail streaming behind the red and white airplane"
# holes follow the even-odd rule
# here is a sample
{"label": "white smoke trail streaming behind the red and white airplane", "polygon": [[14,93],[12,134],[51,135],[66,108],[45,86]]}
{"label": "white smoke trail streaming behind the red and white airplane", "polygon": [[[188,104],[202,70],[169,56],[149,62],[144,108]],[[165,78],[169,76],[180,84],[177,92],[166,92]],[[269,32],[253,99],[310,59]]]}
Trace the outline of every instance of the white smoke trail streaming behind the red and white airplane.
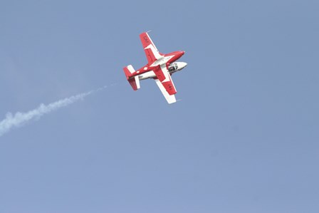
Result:
{"label": "white smoke trail streaming behind the red and white airplane", "polygon": [[41,103],[41,105],[39,105],[38,108],[30,110],[27,113],[18,112],[14,115],[12,115],[12,113],[6,113],[6,118],[4,118],[4,120],[1,120],[0,122],[0,137],[5,133],[8,133],[11,130],[11,128],[18,128],[22,125],[25,125],[31,120],[36,120],[38,118],[41,118],[42,115],[51,113],[53,110],[58,110],[59,108],[66,107],[67,105],[75,103],[78,100],[83,100],[86,96],[103,90],[105,88],[107,88],[107,86],[98,88],[97,90],[91,90],[87,93],[73,95],[69,98],[64,98],[56,102],[49,103],[48,105],[44,105],[43,103]]}

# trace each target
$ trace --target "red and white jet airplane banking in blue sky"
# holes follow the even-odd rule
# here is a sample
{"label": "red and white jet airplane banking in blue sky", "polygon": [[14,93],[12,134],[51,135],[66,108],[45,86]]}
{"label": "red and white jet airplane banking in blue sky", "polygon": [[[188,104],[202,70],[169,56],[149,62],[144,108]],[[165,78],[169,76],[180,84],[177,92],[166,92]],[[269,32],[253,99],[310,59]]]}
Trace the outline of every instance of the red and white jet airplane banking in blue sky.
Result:
{"label": "red and white jet airplane banking in blue sky", "polygon": [[140,80],[153,78],[166,98],[167,103],[175,103],[177,90],[171,76],[187,66],[185,62],[177,62],[185,51],[174,51],[168,54],[160,53],[147,32],[140,34],[140,40],[142,41],[148,63],[137,71],[132,65],[123,68],[128,82],[133,90],[138,90],[140,88]]}

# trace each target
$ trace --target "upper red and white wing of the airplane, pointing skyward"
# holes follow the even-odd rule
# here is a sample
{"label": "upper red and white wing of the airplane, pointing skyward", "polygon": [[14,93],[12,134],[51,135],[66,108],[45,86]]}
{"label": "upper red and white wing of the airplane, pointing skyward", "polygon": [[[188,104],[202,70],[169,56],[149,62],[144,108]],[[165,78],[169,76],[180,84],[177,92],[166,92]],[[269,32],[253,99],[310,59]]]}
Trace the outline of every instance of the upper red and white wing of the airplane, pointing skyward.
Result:
{"label": "upper red and white wing of the airplane, pointing skyward", "polygon": [[153,43],[152,39],[150,38],[150,36],[148,36],[146,32],[140,34],[140,39],[142,41],[145,55],[147,57],[147,61],[149,64],[152,64],[158,58],[162,57],[160,52],[157,50],[155,44]]}

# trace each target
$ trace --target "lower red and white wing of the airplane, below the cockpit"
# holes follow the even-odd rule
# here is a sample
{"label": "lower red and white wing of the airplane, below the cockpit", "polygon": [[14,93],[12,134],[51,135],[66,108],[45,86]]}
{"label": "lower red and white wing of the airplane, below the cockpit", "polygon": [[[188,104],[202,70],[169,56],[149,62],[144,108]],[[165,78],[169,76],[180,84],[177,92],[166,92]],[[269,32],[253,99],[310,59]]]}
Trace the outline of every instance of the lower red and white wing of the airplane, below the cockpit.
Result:
{"label": "lower red and white wing of the airplane, below the cockpit", "polygon": [[171,76],[169,75],[165,65],[159,66],[159,68],[157,68],[157,71],[155,71],[156,76],[158,76],[158,73],[160,72],[163,73],[164,80],[161,81],[160,78],[157,78],[155,79],[155,82],[157,86],[160,88],[167,102],[175,103],[176,102],[175,94],[177,93],[177,91],[173,83],[173,80]]}

